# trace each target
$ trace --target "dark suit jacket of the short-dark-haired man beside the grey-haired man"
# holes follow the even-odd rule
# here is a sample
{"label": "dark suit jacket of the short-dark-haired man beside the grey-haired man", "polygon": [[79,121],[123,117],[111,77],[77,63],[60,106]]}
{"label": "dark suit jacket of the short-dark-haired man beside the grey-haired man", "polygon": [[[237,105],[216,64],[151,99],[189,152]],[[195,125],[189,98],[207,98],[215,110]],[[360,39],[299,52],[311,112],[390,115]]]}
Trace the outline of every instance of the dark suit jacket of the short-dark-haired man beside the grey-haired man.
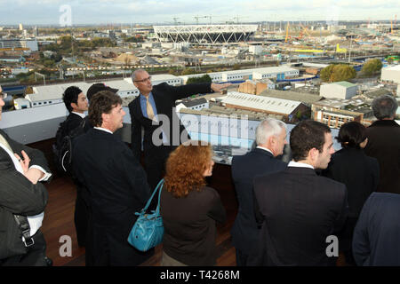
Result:
{"label": "dark suit jacket of the short-dark-haired man beside the grey-haired man", "polygon": [[346,220],[345,185],[312,169],[287,167],[255,177],[254,193],[265,218],[255,264],[334,264],[326,255],[326,238],[339,232]]}

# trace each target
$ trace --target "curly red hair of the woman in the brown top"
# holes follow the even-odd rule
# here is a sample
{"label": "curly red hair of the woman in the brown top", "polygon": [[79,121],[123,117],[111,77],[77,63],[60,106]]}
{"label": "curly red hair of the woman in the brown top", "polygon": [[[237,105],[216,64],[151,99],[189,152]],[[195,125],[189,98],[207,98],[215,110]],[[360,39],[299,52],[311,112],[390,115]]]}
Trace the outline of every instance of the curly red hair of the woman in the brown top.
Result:
{"label": "curly red hair of the woman in the brown top", "polygon": [[204,171],[210,167],[212,146],[202,141],[189,141],[178,146],[166,162],[164,185],[174,197],[185,197],[205,185]]}

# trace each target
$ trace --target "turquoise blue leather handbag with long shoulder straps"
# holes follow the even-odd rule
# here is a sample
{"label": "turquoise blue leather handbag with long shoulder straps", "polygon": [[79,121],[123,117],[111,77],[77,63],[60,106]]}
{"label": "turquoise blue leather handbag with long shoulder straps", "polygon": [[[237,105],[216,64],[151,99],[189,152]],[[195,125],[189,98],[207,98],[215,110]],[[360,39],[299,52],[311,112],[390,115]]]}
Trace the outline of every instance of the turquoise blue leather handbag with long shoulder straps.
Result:
{"label": "turquoise blue leather handbag with long shoulder straps", "polygon": [[[151,194],[145,208],[141,209],[140,212],[135,213],[136,215],[139,215],[139,217],[136,220],[135,225],[133,225],[131,233],[129,233],[128,242],[141,251],[147,251],[150,248],[154,248],[163,241],[164,225],[163,218],[160,215],[160,196],[163,185],[164,179],[161,179],[156,186],[154,193]],[[147,214],[146,210],[157,191],[158,204],[156,211],[152,210],[150,214]]]}

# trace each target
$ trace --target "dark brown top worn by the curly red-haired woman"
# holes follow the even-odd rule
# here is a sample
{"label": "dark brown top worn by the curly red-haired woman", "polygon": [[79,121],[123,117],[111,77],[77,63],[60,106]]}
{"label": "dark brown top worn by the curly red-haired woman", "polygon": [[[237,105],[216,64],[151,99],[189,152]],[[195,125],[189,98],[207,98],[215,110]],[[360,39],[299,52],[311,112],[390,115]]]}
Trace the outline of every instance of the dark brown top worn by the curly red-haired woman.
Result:
{"label": "dark brown top worn by the curly red-haired woman", "polygon": [[215,222],[225,222],[225,209],[211,187],[173,197],[165,187],[160,200],[164,222],[163,249],[168,256],[188,265],[215,265]]}

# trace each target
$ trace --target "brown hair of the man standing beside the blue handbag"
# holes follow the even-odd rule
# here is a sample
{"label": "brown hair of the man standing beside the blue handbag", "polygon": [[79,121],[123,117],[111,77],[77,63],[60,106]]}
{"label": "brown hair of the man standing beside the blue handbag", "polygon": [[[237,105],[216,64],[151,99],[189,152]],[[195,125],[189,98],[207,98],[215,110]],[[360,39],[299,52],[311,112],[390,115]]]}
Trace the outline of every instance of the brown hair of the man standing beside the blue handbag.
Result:
{"label": "brown hair of the man standing beside the blue handbag", "polygon": [[101,114],[109,114],[113,107],[122,105],[122,99],[112,91],[99,91],[89,104],[89,121],[93,126],[101,126]]}

